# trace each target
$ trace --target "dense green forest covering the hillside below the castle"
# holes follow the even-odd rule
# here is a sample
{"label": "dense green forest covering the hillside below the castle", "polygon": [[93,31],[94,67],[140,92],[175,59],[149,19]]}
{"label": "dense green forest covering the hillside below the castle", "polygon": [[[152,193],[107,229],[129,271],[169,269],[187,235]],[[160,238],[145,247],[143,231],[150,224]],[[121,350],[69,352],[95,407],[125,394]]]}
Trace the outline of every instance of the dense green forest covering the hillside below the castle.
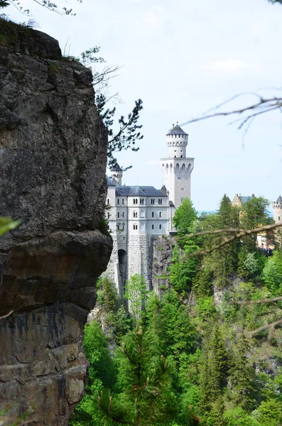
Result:
{"label": "dense green forest covering the hillside below the castle", "polygon": [[222,244],[232,229],[271,224],[268,207],[224,195],[198,215],[185,199],[160,295],[134,275],[119,300],[100,278],[84,335],[89,381],[70,426],[282,425],[281,233],[266,235],[273,252],[256,233]]}

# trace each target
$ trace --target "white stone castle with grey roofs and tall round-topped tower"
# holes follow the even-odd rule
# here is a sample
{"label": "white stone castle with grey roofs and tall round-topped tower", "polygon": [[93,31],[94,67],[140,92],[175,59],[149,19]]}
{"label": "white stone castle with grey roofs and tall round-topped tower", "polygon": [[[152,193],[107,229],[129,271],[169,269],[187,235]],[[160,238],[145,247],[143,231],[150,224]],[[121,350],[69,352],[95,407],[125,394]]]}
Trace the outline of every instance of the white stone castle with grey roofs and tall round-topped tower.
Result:
{"label": "white stone castle with grey roofs and tall round-topped tower", "polygon": [[178,124],[166,135],[168,157],[161,159],[163,187],[122,185],[119,166],[108,178],[106,218],[114,243],[106,274],[123,294],[126,279],[135,273],[151,285],[153,239],[173,232],[172,219],[191,194],[194,158],[186,157],[188,134]]}

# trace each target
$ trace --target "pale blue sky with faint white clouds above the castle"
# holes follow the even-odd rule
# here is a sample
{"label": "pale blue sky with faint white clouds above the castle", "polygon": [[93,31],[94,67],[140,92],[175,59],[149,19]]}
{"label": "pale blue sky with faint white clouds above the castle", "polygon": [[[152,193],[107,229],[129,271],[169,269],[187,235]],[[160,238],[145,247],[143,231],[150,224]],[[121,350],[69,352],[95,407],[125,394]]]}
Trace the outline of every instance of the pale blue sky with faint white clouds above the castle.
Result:
{"label": "pale blue sky with faint white clouds above the castle", "polygon": [[[36,29],[59,40],[70,55],[98,45],[108,65],[119,65],[109,92],[119,92],[117,115],[127,115],[143,100],[143,140],[136,153],[117,158],[126,185],[160,188],[160,158],[168,155],[166,133],[205,111],[242,94],[222,111],[251,105],[254,94],[280,96],[282,5],[266,0],[58,0],[76,16],[60,16],[32,0]],[[26,16],[9,6],[16,21]],[[246,94],[247,92],[247,94]],[[187,124],[187,156],[195,158],[191,198],[199,211],[217,209],[226,193],[282,195],[281,113],[273,111],[238,130],[235,117],[216,117]]]}

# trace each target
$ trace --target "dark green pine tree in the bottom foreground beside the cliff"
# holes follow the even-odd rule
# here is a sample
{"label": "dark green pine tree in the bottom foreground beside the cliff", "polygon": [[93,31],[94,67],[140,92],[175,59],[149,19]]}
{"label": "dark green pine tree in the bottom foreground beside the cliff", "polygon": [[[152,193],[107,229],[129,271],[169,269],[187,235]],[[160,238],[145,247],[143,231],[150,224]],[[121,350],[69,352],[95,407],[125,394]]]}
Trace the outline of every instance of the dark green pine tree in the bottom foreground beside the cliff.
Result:
{"label": "dark green pine tree in the bottom foreground beside the cliff", "polygon": [[171,391],[171,367],[160,354],[152,333],[129,332],[122,344],[124,363],[119,366],[126,377],[123,392],[103,391],[99,406],[106,417],[122,425],[156,425],[176,415]]}

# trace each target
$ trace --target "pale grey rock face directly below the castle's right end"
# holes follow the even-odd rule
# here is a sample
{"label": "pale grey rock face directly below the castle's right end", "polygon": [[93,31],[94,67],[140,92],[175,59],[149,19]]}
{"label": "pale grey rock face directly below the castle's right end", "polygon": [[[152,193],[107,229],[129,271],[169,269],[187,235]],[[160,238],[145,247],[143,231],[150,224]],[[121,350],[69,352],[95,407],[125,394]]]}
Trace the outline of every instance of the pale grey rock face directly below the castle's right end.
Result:
{"label": "pale grey rock face directly below the castle's right end", "polygon": [[172,236],[158,236],[153,241],[152,287],[157,295],[169,287],[168,266],[171,265],[175,240]]}

